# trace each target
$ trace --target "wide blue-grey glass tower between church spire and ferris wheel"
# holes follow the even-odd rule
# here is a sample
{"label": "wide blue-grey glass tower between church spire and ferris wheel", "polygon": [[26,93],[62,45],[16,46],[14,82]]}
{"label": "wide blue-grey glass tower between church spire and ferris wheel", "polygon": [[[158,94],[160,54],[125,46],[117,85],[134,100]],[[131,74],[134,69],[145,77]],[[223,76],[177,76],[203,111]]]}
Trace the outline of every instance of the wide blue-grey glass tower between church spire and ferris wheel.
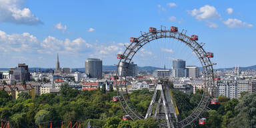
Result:
{"label": "wide blue-grey glass tower between church spire and ferris wheel", "polygon": [[85,61],[85,73],[90,78],[102,78],[102,61],[101,59],[89,58]]}

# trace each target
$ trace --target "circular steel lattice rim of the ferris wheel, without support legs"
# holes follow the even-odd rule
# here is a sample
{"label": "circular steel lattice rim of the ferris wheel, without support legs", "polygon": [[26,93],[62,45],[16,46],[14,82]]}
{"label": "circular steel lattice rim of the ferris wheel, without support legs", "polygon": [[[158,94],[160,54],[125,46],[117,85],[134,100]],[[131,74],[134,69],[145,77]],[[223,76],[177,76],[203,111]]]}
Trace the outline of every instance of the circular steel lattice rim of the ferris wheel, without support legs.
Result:
{"label": "circular steel lattice rim of the ferris wheel, without support legs", "polygon": [[[145,117],[138,113],[135,109],[135,107],[132,106],[132,103],[129,99],[128,90],[127,90],[127,81],[126,77],[123,76],[123,69],[128,68],[127,65],[123,65],[121,63],[131,63],[131,60],[133,59],[134,55],[147,43],[150,43],[153,40],[156,39],[163,39],[163,38],[172,38],[177,39],[178,41],[181,41],[182,43],[185,43],[188,47],[191,48],[191,50],[197,55],[202,68],[203,68],[203,81],[205,86],[203,89],[203,95],[201,97],[201,100],[197,107],[193,109],[193,112],[187,116],[185,119],[179,121],[177,123],[177,127],[185,127],[187,125],[191,125],[193,121],[196,119],[199,119],[200,115],[206,111],[209,105],[209,101],[211,99],[211,95],[214,95],[215,93],[215,87],[213,82],[213,65],[215,63],[211,63],[211,60],[209,57],[206,56],[206,52],[203,49],[204,43],[197,43],[197,41],[192,40],[189,36],[186,35],[187,31],[184,29],[179,33],[178,31],[171,31],[169,29],[166,29],[166,27],[161,26],[160,30],[157,30],[155,32],[149,32],[149,33],[143,33],[141,32],[141,35],[137,38],[137,41],[131,42],[129,46],[125,46],[125,51],[123,52],[123,57],[119,60],[119,64],[117,65],[117,76],[119,76],[120,81],[115,80],[115,88],[117,89],[117,95],[119,96],[119,102],[121,103],[121,106],[123,107],[125,113],[131,117],[133,121],[137,119],[144,119]],[[120,68],[121,66],[121,68]],[[119,72],[121,72],[121,75],[119,75]],[[125,77],[123,79],[123,77]],[[123,81],[122,81],[123,79]],[[125,83],[125,84],[123,84]]]}

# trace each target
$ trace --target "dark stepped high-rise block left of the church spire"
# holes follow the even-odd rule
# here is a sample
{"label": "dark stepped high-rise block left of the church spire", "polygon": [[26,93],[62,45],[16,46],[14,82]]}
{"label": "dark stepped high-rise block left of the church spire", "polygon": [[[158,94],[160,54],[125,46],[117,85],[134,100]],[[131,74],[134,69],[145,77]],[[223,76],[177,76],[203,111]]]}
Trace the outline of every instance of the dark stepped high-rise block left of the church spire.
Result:
{"label": "dark stepped high-rise block left of the church spire", "polygon": [[11,79],[16,81],[30,81],[29,67],[25,63],[19,63],[18,67],[10,69],[10,74],[13,75]]}

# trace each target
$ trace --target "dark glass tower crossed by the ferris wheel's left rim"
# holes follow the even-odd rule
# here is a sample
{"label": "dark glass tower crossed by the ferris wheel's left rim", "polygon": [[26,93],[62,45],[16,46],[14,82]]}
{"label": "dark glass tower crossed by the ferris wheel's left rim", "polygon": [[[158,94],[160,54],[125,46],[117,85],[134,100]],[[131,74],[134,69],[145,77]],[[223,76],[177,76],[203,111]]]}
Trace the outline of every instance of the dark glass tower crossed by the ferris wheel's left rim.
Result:
{"label": "dark glass tower crossed by the ferris wheel's left rim", "polygon": [[[122,62],[119,65],[119,75],[124,76],[136,76],[138,75],[137,64],[131,62],[130,64]],[[123,69],[122,69],[123,68]]]}

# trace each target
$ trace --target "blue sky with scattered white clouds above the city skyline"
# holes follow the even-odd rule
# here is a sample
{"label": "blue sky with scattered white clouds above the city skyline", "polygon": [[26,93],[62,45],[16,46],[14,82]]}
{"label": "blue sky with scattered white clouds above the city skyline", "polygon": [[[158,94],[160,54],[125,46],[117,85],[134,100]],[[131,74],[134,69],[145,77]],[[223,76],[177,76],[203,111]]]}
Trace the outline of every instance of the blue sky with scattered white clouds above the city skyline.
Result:
{"label": "blue sky with scattered white clouds above the city skyline", "polygon": [[[253,0],[0,0],[0,5],[0,67],[15,67],[21,62],[29,67],[55,67],[57,53],[61,67],[84,67],[89,57],[113,65],[129,37],[161,25],[175,25],[186,29],[188,35],[199,35],[205,49],[215,53],[216,68],[256,65]],[[152,43],[150,47],[153,49],[148,46],[140,51],[135,63],[170,66],[170,58],[187,59],[191,54],[183,51],[187,48],[182,45]],[[147,63],[149,59],[155,63]],[[193,59],[188,63],[197,65]]]}

